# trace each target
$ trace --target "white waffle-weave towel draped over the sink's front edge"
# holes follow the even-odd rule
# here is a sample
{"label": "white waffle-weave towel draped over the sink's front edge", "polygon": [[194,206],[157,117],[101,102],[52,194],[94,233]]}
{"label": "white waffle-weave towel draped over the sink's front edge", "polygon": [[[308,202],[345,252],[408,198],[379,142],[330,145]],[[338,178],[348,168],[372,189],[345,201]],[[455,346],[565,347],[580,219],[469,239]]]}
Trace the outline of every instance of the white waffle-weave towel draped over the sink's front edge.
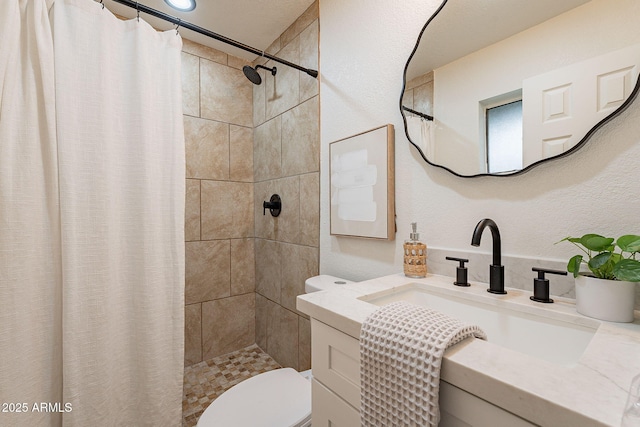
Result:
{"label": "white waffle-weave towel draped over the sink's front edge", "polygon": [[406,302],[376,310],[360,332],[363,427],[437,426],[440,365],[447,347],[478,327]]}

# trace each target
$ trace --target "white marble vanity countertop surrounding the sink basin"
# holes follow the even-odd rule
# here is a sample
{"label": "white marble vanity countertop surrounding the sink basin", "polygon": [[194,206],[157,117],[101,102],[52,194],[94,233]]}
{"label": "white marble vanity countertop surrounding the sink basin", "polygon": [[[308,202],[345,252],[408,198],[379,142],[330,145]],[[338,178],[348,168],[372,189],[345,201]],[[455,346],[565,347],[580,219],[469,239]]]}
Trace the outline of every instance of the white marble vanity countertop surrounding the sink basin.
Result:
{"label": "white marble vanity countertop surrounding the sink basin", "polygon": [[434,292],[461,296],[494,306],[543,314],[596,330],[591,342],[571,365],[561,365],[478,339],[450,347],[441,378],[488,402],[542,426],[619,426],[634,376],[640,374],[640,319],[612,323],[575,311],[573,300],[553,297],[554,304],[529,299],[530,293],[507,288],[507,295],[486,292],[487,285],[453,286],[453,279],[428,275],[411,279],[403,274],[344,285],[330,291],[300,295],[297,308],[358,338],[362,322],[378,307],[358,298],[420,283]]}

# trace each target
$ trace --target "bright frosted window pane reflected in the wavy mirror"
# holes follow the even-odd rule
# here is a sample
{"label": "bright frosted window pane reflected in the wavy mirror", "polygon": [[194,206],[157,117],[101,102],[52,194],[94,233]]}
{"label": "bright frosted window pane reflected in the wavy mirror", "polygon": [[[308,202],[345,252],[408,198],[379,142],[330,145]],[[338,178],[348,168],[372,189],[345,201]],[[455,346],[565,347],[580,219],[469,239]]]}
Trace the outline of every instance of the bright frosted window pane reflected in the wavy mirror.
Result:
{"label": "bright frosted window pane reflected in the wavy mirror", "polygon": [[522,169],[522,100],[486,109],[487,169]]}

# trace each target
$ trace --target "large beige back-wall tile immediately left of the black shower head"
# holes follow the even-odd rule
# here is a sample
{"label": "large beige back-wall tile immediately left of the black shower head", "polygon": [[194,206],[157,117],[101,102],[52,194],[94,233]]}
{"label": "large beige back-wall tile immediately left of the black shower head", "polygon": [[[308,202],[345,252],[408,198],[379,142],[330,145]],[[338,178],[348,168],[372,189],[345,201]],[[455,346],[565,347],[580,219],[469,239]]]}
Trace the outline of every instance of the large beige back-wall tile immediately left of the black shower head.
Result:
{"label": "large beige back-wall tile immediately left of the black shower head", "polygon": [[253,84],[242,71],[200,60],[200,115],[203,118],[252,126]]}

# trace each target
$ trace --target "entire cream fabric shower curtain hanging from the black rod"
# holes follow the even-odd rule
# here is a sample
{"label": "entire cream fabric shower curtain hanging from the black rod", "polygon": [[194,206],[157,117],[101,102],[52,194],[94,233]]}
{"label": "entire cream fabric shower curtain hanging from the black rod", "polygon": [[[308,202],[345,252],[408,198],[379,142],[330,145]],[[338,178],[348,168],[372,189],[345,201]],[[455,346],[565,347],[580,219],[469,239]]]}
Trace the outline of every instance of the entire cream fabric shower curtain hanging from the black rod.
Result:
{"label": "entire cream fabric shower curtain hanging from the black rod", "polygon": [[178,426],[181,39],[0,3],[0,425]]}

